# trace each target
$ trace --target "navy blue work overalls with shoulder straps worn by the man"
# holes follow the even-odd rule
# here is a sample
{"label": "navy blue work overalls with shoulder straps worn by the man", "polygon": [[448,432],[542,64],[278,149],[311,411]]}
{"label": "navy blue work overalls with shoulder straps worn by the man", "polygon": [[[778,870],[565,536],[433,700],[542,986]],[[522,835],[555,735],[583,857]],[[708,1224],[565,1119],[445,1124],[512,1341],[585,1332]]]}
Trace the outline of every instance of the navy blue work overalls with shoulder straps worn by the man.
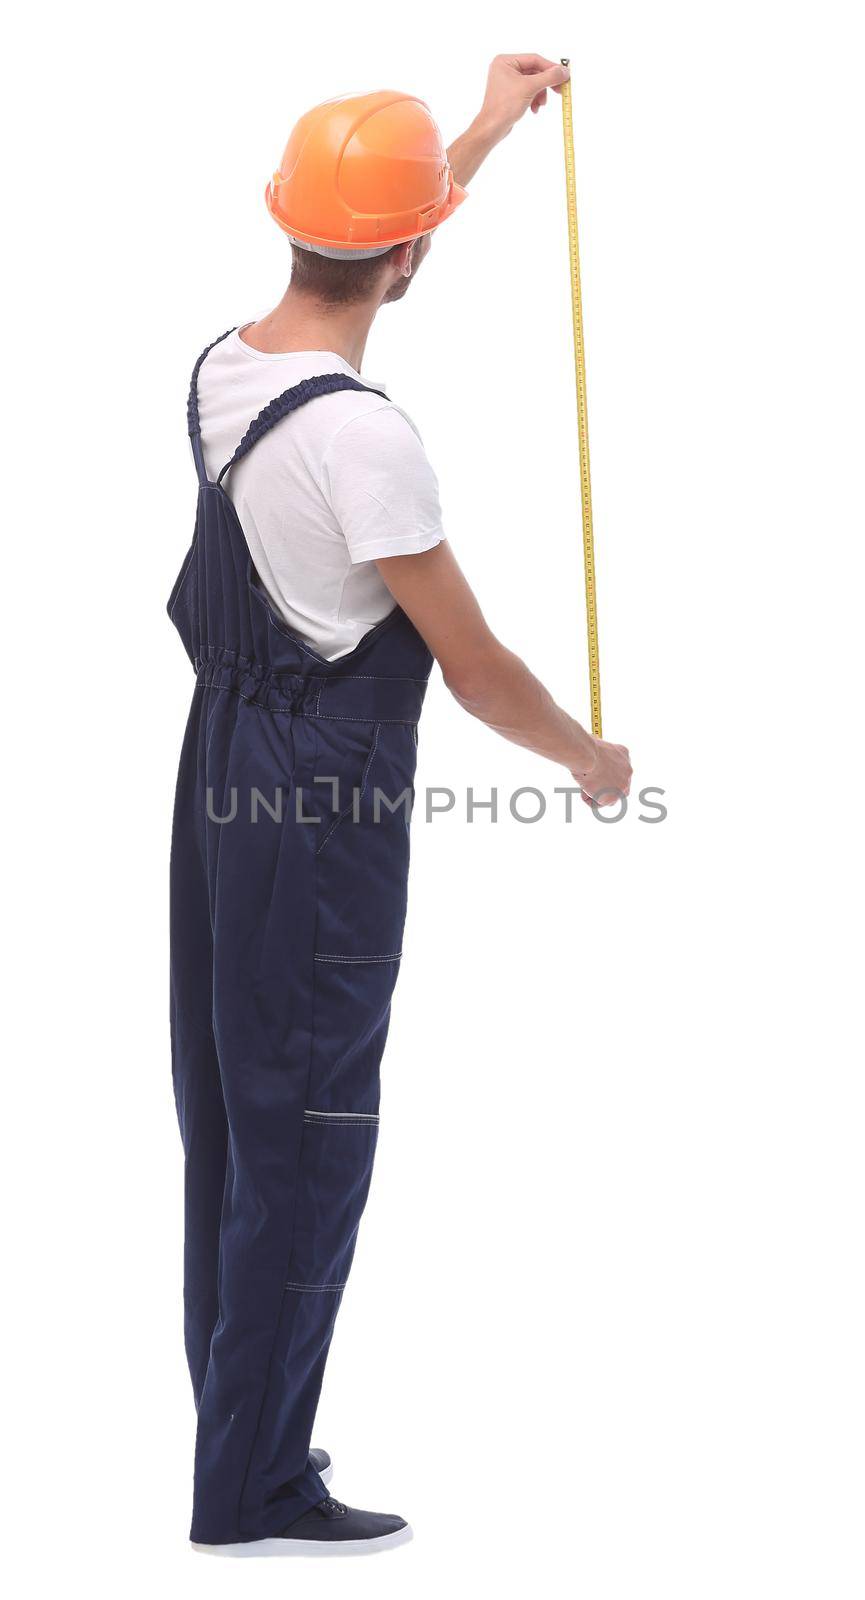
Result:
{"label": "navy blue work overalls with shoulder straps worn by the man", "polygon": [[195,538],[168,603],[197,674],[171,842],[171,1048],[192,1538],[221,1544],[273,1536],[326,1494],[310,1432],[373,1168],[432,658],[400,610],[339,661],[301,643],[224,488],[294,410],[363,384],[286,390],[209,482],[206,355],[189,397]]}

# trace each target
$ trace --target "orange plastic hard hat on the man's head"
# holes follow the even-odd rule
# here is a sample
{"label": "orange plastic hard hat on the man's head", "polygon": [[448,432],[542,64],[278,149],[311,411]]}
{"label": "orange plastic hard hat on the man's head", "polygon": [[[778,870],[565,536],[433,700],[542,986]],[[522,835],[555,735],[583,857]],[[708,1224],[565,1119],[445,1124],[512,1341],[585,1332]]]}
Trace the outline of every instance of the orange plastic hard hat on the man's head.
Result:
{"label": "orange plastic hard hat on the man's head", "polygon": [[384,254],[430,234],[465,200],[429,106],[379,90],[315,106],[291,133],[267,210],[309,250]]}

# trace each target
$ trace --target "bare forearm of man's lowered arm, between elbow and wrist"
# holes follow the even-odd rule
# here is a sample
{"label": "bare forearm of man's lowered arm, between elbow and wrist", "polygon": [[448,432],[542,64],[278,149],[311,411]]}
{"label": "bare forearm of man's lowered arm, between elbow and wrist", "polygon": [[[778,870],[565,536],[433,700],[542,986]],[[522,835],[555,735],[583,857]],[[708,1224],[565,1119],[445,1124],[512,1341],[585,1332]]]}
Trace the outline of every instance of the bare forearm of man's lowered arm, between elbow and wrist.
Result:
{"label": "bare forearm of man's lowered arm, between elbow and wrist", "polygon": [[512,744],[560,762],[571,773],[593,765],[592,734],[556,706],[520,656],[497,640],[468,667],[454,674],[444,670],[444,682],[464,710]]}

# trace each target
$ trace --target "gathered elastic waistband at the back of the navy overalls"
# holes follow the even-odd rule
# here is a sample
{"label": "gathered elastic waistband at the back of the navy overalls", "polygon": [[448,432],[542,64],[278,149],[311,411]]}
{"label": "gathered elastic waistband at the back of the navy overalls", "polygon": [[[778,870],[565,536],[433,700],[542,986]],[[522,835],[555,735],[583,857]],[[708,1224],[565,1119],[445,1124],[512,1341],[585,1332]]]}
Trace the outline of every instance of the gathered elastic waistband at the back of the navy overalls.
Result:
{"label": "gathered elastic waistband at the back of the navy overalls", "polygon": [[198,688],[224,690],[262,710],[326,722],[409,722],[421,717],[425,678],[373,674],[291,674],[209,646],[195,661]]}

